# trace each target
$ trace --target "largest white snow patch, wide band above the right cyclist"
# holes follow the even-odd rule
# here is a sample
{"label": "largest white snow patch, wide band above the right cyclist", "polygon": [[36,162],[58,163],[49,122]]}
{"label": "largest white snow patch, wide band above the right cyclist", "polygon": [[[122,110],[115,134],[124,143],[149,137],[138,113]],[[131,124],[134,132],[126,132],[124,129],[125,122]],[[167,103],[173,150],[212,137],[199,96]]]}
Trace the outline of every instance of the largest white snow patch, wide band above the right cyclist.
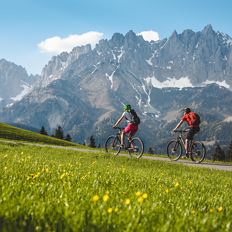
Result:
{"label": "largest white snow patch, wide band above the right cyclist", "polygon": [[153,87],[162,89],[162,88],[186,88],[193,87],[189,77],[181,77],[179,79],[176,78],[167,78],[166,81],[159,81],[154,76],[145,78],[147,84],[152,84]]}

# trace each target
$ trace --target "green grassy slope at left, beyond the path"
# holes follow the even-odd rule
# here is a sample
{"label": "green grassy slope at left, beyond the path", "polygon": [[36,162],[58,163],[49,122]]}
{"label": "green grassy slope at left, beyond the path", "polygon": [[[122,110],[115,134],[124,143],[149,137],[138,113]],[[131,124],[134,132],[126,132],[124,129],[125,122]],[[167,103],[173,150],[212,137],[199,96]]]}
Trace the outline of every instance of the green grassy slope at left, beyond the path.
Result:
{"label": "green grassy slope at left, beyond the path", "polygon": [[41,135],[36,132],[20,129],[8,124],[0,123],[0,139],[10,139],[10,140],[20,140],[27,142],[45,143],[45,144],[55,144],[61,146],[76,146],[77,144],[56,139],[50,136]]}

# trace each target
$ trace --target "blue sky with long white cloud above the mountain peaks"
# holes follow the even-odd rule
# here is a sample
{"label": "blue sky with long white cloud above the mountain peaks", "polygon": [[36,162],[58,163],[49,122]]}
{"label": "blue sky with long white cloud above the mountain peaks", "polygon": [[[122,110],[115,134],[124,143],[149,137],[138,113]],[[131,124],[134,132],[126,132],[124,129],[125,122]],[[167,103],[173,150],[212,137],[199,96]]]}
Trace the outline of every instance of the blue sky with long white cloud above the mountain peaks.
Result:
{"label": "blue sky with long white cloud above the mountain peaks", "polygon": [[163,39],[211,24],[232,36],[231,9],[231,0],[0,0],[0,59],[40,74],[60,51],[115,32]]}

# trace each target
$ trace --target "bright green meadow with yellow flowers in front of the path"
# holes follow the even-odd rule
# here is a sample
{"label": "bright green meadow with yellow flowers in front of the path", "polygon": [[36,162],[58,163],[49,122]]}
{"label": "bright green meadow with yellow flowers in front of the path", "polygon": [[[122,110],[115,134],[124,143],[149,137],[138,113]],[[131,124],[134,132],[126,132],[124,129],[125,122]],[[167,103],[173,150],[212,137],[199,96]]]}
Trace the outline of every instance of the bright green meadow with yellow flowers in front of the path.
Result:
{"label": "bright green meadow with yellow flowers in front of the path", "polygon": [[232,175],[0,144],[0,231],[232,231]]}

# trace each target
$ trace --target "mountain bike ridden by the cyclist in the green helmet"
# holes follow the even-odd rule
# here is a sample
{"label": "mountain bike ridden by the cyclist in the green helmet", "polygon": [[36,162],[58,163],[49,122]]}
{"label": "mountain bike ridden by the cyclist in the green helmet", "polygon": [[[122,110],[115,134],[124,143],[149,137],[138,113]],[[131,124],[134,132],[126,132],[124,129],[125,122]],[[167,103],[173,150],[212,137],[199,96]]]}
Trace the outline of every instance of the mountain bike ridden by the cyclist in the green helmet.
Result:
{"label": "mountain bike ridden by the cyclist in the green helmet", "polygon": [[139,137],[129,139],[128,135],[124,136],[124,146],[121,146],[121,132],[124,128],[115,127],[118,129],[116,135],[110,135],[105,142],[105,151],[109,154],[117,156],[121,150],[126,150],[131,157],[141,158],[144,152],[143,141]]}

